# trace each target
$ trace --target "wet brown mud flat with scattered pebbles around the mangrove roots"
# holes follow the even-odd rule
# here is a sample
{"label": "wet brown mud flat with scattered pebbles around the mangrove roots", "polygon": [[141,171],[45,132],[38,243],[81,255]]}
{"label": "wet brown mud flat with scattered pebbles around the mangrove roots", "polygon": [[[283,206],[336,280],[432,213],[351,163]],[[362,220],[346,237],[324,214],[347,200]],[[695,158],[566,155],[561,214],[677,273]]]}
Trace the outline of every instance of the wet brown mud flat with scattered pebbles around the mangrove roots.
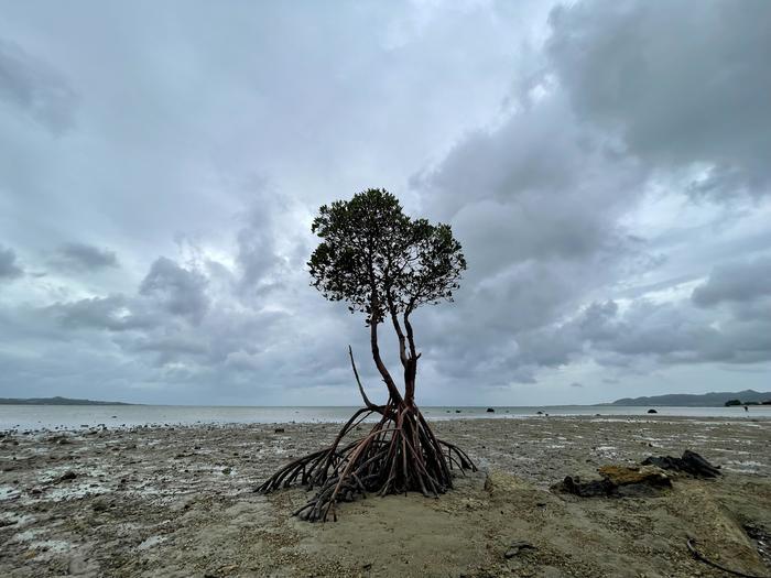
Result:
{"label": "wet brown mud flat with scattered pebbles around the mangrove roots", "polygon": [[[466,449],[479,472],[438,500],[341,504],[336,523],[292,519],[303,490],[252,491],[338,428],[4,432],[0,576],[726,576],[689,554],[688,537],[721,565],[771,576],[769,419],[439,422],[437,434]],[[568,475],[589,479],[602,465],[684,449],[724,475],[675,477],[650,498],[550,490]]]}

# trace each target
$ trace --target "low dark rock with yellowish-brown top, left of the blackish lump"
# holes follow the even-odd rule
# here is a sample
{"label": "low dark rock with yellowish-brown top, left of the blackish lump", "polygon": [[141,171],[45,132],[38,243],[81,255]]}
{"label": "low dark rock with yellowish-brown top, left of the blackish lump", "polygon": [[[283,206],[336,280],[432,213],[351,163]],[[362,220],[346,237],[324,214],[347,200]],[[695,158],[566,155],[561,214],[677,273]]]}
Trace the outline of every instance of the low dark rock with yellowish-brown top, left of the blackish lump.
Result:
{"label": "low dark rock with yellowish-brown top, left of the blackish lump", "polygon": [[582,498],[638,498],[659,495],[672,487],[666,473],[654,466],[602,466],[598,472],[599,480],[583,482],[578,476],[567,476],[552,489]]}

